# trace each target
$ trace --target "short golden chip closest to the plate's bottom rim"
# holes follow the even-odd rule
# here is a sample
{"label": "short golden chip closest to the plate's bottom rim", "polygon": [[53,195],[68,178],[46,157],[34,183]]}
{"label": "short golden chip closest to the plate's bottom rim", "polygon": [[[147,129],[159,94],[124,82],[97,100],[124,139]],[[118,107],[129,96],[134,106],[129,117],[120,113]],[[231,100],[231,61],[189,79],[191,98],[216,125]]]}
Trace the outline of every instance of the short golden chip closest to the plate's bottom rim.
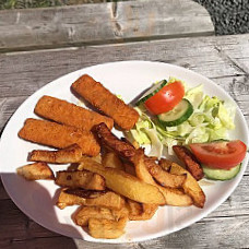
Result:
{"label": "short golden chip closest to the plate's bottom rim", "polygon": [[94,238],[119,238],[124,234],[124,227],[128,222],[127,217],[119,221],[110,221],[106,218],[90,218],[88,232]]}

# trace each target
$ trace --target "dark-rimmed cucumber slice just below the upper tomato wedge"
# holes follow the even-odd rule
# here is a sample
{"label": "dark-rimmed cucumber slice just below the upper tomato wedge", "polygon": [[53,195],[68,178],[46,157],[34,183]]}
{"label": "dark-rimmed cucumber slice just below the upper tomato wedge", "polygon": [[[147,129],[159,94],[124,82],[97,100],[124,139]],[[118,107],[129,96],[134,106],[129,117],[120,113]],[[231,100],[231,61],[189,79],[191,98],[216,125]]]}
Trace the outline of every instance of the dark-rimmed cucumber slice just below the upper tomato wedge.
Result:
{"label": "dark-rimmed cucumber slice just below the upper tomato wedge", "polygon": [[158,119],[163,126],[175,127],[186,121],[193,112],[193,106],[191,103],[182,98],[178,105],[171,110],[158,115]]}

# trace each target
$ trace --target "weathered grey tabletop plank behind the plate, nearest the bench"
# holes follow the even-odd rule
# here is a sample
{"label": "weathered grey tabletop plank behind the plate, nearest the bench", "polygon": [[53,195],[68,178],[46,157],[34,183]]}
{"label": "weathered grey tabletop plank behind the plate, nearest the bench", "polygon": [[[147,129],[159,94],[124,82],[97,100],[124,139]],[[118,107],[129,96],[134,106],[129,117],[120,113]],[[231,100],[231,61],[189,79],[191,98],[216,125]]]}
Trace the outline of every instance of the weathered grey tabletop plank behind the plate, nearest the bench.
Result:
{"label": "weathered grey tabletop plank behind the plate, nearest the bench", "polygon": [[218,83],[218,78],[248,74],[241,69],[244,60],[249,58],[248,40],[248,35],[240,35],[3,54],[0,55],[0,97],[31,95],[66,73],[122,60],[174,63],[211,79],[217,78]]}

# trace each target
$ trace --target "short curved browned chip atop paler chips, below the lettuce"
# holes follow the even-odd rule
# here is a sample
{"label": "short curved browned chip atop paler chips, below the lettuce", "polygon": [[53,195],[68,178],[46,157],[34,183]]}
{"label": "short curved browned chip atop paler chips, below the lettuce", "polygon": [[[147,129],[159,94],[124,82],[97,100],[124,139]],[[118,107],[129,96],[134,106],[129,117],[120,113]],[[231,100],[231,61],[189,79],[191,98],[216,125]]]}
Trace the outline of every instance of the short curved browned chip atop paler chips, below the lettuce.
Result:
{"label": "short curved browned chip atop paler chips, below the lettuce", "polygon": [[145,159],[146,167],[151,175],[156,179],[158,183],[161,183],[163,187],[168,188],[181,188],[186,176],[181,175],[173,175],[168,171],[165,171],[159,165],[157,165],[154,161]]}

